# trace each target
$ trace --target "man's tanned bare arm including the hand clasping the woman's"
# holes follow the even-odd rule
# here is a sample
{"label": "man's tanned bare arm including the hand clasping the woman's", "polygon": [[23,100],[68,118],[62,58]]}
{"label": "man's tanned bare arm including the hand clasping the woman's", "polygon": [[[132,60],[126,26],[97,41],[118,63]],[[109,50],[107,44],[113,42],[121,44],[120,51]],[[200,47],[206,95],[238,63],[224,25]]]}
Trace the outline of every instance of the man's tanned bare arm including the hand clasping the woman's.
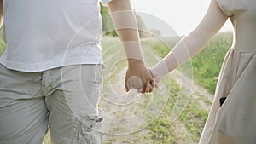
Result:
{"label": "man's tanned bare arm including the hand clasping the woman's", "polygon": [[[108,3],[108,9],[127,56],[128,69],[125,76],[126,91],[131,88],[130,86],[133,86],[135,89],[142,88],[142,93],[152,91],[153,88],[150,84],[154,86],[154,78],[151,77],[148,68],[143,63],[137,20],[131,9],[130,0],[113,0]],[[133,83],[130,85],[129,78],[131,78],[131,76],[139,78],[142,81],[143,87],[138,87],[137,85],[133,85]],[[145,89],[146,86],[148,89]]]}

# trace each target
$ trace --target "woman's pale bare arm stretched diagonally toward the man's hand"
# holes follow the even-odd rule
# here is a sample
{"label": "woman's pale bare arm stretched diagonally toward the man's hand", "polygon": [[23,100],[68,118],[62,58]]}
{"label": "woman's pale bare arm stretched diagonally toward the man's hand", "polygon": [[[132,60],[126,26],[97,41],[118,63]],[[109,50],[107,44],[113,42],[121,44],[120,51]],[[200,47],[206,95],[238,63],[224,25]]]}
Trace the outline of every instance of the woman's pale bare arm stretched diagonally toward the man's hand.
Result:
{"label": "woman's pale bare arm stretched diagonally toward the man's hand", "polygon": [[166,55],[163,60],[152,67],[152,72],[157,81],[166,75],[167,72],[172,71],[177,66],[183,64],[193,56],[197,55],[212,37],[224,25],[228,16],[218,7],[217,0],[212,0],[207,14],[203,17],[201,22],[195,29],[186,37],[177,43],[172,51]]}

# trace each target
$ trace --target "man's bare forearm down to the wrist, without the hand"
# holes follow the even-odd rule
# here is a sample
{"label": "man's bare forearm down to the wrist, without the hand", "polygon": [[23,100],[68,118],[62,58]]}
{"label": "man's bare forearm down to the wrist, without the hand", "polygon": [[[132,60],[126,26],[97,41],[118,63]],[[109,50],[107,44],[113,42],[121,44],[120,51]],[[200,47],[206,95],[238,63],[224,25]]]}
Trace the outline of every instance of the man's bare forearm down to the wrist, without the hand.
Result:
{"label": "man's bare forearm down to the wrist, without the hand", "polygon": [[113,0],[108,3],[108,9],[119,39],[123,43],[128,65],[131,66],[135,61],[143,63],[136,15],[131,9],[130,1]]}

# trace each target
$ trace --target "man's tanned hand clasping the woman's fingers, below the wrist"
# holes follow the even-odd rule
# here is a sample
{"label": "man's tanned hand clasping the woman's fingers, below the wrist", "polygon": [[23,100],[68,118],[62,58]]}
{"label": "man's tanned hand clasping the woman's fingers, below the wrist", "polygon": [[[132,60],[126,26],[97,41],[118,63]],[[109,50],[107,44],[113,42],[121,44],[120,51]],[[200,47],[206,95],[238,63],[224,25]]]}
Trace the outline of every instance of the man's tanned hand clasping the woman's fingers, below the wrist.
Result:
{"label": "man's tanned hand clasping the woman's fingers, below the wrist", "polygon": [[137,92],[152,92],[156,83],[152,73],[144,66],[143,62],[135,59],[128,59],[128,69],[125,75],[125,89],[137,89]]}

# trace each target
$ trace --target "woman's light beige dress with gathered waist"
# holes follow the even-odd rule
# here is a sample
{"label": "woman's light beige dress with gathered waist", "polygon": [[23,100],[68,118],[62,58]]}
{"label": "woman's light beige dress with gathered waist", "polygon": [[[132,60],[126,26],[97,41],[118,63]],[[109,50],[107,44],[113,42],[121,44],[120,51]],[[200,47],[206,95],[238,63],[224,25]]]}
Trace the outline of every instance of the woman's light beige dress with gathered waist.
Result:
{"label": "woman's light beige dress with gathered waist", "polygon": [[200,144],[256,144],[256,1],[217,1],[236,43],[225,56]]}

